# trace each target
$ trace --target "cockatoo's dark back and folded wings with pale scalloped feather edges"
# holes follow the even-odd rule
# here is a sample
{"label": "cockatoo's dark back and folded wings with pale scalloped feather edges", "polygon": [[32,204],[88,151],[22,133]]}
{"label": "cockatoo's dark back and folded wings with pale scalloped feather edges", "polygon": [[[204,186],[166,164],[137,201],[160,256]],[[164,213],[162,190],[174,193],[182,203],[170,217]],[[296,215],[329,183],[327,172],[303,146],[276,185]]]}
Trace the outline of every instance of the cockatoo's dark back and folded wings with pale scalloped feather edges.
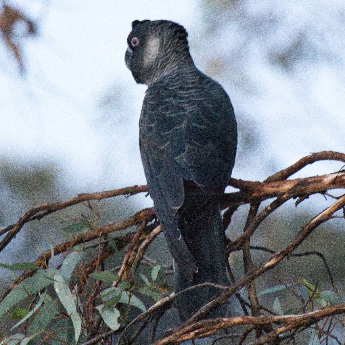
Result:
{"label": "cockatoo's dark back and folded wings with pale scalloped feather edges", "polygon": [[207,198],[221,193],[230,179],[237,143],[230,99],[202,73],[195,87],[157,83],[146,92],[139,127],[148,188],[171,253],[180,268],[195,271],[176,215],[185,199],[184,181],[194,181]]}

